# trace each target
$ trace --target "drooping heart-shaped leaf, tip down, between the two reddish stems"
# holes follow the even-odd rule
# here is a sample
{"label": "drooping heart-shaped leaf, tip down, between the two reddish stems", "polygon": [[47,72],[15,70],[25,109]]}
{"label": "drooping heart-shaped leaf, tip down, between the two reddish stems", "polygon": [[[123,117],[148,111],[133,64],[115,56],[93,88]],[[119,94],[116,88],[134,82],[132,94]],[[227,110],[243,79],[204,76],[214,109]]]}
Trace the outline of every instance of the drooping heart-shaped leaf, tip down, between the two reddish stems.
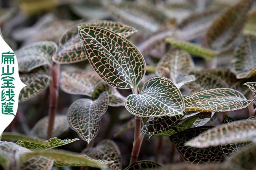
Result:
{"label": "drooping heart-shaped leaf, tip down, between the two reddish stems", "polygon": [[95,101],[87,98],[76,100],[67,111],[69,126],[89,143],[98,134],[101,116],[106,113],[108,103],[108,92],[100,94]]}

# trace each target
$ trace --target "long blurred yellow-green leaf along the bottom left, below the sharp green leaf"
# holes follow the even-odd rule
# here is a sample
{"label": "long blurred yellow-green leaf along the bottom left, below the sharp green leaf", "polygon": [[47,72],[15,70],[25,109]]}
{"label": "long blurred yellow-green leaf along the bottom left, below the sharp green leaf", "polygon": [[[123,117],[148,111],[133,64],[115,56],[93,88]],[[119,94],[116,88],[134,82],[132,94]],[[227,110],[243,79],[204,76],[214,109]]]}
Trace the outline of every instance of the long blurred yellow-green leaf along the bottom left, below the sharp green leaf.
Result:
{"label": "long blurred yellow-green leaf along the bottom left, below the sharp green leaf", "polygon": [[54,160],[54,167],[63,166],[90,166],[95,168],[104,168],[109,163],[108,161],[95,160],[86,155],[78,155],[77,153],[49,150],[42,152],[25,152],[20,155],[20,162],[24,162],[32,157],[43,156]]}

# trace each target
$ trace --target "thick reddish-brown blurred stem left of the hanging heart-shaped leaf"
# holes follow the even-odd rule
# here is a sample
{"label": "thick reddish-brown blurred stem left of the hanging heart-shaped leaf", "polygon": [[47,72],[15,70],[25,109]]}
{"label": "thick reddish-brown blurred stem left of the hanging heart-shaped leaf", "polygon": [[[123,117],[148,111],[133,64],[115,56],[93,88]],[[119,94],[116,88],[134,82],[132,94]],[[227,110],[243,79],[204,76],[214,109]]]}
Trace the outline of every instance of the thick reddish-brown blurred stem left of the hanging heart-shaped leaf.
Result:
{"label": "thick reddish-brown blurred stem left of the hanging heart-shaped leaf", "polygon": [[51,68],[52,80],[50,81],[50,104],[49,104],[49,121],[47,129],[47,139],[52,137],[54,128],[55,113],[58,105],[58,93],[59,93],[59,64],[55,64]]}

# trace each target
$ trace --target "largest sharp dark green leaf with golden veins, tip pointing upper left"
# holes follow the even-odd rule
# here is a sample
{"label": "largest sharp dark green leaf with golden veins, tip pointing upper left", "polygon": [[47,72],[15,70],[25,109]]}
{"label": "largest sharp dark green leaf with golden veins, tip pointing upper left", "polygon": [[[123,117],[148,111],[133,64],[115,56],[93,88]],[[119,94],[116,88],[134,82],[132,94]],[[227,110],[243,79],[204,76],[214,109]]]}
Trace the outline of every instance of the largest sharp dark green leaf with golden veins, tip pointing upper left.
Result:
{"label": "largest sharp dark green leaf with golden veins, tip pointing upper left", "polygon": [[145,60],[127,39],[106,28],[79,26],[87,58],[109,85],[120,89],[135,88],[145,75]]}

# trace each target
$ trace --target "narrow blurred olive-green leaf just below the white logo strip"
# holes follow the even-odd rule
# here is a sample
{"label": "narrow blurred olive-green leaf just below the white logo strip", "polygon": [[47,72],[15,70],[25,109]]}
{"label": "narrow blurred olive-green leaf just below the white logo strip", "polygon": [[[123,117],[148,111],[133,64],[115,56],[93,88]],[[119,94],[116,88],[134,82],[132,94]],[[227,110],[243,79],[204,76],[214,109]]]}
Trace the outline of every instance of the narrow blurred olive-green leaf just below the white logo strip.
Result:
{"label": "narrow blurred olive-green leaf just below the white logo strip", "polygon": [[28,137],[26,135],[22,135],[19,133],[11,133],[11,132],[4,132],[2,135],[2,140],[24,140],[26,142],[31,142],[33,144],[39,144],[42,146],[49,146],[49,144],[41,139],[35,137]]}

